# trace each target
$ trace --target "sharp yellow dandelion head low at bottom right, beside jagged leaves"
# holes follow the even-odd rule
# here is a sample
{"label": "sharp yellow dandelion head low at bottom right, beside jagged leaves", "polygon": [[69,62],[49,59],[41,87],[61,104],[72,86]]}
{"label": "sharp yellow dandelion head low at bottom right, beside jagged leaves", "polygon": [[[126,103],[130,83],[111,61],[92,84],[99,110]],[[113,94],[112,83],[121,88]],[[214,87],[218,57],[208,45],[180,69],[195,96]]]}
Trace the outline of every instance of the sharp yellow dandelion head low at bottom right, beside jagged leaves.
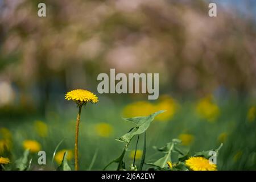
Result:
{"label": "sharp yellow dandelion head low at bottom right, beside jagged leaves", "polygon": [[203,157],[191,157],[185,161],[185,164],[192,171],[217,171],[216,164],[210,164],[209,160]]}

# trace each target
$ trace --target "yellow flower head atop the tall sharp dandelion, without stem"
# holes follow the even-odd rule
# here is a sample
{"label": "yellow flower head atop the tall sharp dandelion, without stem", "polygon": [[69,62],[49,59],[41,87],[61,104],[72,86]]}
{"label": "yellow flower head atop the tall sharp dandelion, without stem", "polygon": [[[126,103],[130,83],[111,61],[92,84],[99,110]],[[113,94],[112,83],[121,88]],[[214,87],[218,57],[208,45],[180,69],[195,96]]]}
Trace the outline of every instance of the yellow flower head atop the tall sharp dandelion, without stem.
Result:
{"label": "yellow flower head atop the tall sharp dandelion, without stem", "polygon": [[95,94],[89,92],[88,90],[82,89],[76,89],[68,92],[65,95],[65,99],[67,99],[68,101],[73,100],[77,102],[77,104],[85,104],[86,102],[98,102],[98,97]]}

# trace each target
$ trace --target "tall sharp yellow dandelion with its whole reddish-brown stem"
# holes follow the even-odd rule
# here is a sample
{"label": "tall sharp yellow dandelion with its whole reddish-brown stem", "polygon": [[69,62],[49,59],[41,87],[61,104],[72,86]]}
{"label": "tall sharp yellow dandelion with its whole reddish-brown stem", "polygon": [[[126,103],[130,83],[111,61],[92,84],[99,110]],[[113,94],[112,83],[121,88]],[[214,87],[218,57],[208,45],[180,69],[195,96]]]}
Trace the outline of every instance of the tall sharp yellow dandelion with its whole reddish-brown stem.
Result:
{"label": "tall sharp yellow dandelion with its whole reddish-brown stem", "polygon": [[93,104],[98,102],[98,97],[89,92],[88,90],[76,89],[65,94],[65,99],[75,101],[79,107],[79,112],[77,114],[76,120],[76,135],[75,135],[75,170],[79,170],[79,159],[78,159],[78,138],[79,138],[79,124],[82,106],[85,106],[87,102]]}

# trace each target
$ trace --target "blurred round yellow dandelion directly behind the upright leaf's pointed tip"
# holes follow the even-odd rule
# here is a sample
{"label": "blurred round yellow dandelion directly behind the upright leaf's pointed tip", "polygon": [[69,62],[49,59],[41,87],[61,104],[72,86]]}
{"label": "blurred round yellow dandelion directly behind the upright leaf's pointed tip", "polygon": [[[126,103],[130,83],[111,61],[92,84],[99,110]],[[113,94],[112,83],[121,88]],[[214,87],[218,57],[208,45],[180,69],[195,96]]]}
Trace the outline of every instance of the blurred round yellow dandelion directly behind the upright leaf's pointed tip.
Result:
{"label": "blurred round yellow dandelion directly behind the upright leaf's pointed tip", "polygon": [[159,102],[155,105],[155,110],[166,110],[166,112],[159,114],[155,117],[156,121],[168,121],[177,111],[177,102],[168,95],[163,95],[159,97]]}

